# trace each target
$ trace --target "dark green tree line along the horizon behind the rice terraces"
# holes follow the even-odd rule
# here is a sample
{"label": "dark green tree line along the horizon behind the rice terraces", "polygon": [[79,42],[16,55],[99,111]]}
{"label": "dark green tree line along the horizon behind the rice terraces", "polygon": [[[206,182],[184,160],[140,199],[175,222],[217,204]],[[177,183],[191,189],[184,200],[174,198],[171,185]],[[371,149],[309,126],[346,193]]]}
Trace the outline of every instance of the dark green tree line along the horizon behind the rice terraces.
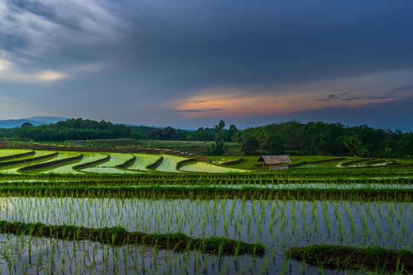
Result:
{"label": "dark green tree line along the horizon behind the rice terraces", "polygon": [[237,129],[221,120],[211,128],[196,131],[158,129],[149,126],[125,126],[102,120],[69,119],[41,126],[23,124],[14,129],[0,129],[0,137],[19,140],[64,141],[134,138],[136,140],[184,140],[213,142],[208,155],[222,155],[225,142],[240,144],[240,153],[290,155],[349,155],[359,157],[413,157],[413,133],[374,129],[368,125],[346,126],[341,123],[296,120]]}

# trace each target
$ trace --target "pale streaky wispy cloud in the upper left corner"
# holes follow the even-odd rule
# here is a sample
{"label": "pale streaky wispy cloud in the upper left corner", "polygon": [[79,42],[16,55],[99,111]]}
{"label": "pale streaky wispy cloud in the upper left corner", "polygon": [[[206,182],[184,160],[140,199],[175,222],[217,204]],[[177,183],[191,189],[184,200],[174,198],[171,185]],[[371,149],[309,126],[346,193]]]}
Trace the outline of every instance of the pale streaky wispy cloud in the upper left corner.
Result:
{"label": "pale streaky wispy cloud in the upper left corner", "polygon": [[[112,63],[127,24],[118,6],[97,0],[5,0],[0,9],[2,79],[50,82]],[[11,70],[12,69],[12,73]]]}

